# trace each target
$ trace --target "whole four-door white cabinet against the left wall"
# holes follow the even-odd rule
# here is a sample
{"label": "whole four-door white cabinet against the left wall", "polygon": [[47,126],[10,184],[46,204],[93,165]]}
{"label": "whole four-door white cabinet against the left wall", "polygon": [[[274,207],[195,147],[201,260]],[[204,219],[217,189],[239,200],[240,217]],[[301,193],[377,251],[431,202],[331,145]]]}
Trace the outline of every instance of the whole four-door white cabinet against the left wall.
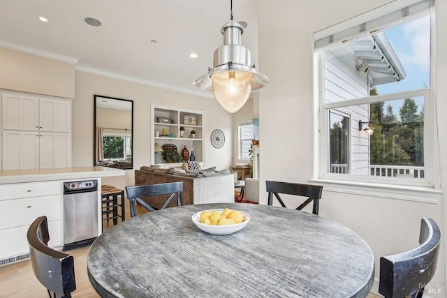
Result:
{"label": "whole four-door white cabinet against the left wall", "polygon": [[2,169],[71,167],[71,100],[1,94]]}

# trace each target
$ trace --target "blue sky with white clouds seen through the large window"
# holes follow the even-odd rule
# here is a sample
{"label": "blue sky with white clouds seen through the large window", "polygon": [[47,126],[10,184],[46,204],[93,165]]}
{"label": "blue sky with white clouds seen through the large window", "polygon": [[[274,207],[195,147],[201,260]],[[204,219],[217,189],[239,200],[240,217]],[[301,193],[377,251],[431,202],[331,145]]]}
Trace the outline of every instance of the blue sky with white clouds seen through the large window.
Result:
{"label": "blue sky with white clouds seen through the large window", "polygon": [[[387,29],[384,33],[399,57],[406,77],[400,82],[377,85],[379,95],[430,87],[430,16]],[[403,100],[399,101],[402,106]],[[423,101],[416,103],[420,112]],[[399,107],[393,105],[393,111],[398,115]]]}

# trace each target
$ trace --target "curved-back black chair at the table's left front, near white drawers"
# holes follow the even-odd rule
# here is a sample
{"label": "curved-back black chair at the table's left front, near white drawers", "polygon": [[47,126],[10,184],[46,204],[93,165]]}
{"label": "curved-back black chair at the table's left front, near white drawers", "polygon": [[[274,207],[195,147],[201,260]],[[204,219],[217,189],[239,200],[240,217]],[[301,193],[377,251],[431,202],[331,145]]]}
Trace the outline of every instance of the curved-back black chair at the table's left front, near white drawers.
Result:
{"label": "curved-back black chair at the table's left front, near white drawers", "polygon": [[47,288],[50,298],[71,297],[76,290],[73,256],[47,246],[50,241],[47,216],[31,223],[27,238],[34,275]]}

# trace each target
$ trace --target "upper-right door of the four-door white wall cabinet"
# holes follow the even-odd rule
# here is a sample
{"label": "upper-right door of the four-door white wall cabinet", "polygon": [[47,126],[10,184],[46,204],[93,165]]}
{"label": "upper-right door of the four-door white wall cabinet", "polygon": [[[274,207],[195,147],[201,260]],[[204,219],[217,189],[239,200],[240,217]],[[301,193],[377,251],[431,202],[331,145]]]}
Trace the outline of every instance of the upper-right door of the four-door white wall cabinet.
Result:
{"label": "upper-right door of the four-door white wall cabinet", "polygon": [[71,131],[71,101],[41,98],[39,102],[41,131]]}

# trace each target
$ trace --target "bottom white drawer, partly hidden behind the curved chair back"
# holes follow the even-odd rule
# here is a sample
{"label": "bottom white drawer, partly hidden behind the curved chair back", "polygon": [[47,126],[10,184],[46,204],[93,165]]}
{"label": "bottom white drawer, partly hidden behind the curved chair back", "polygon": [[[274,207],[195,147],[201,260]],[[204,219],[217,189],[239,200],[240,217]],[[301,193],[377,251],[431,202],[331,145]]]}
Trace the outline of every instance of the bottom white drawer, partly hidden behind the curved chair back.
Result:
{"label": "bottom white drawer, partly hidden behind the curved chair back", "polygon": [[[0,230],[0,239],[2,241],[0,246],[0,260],[29,253],[27,239],[28,228],[29,225],[24,225],[19,228]],[[49,221],[48,232],[50,233],[48,246],[61,246],[61,221]]]}

